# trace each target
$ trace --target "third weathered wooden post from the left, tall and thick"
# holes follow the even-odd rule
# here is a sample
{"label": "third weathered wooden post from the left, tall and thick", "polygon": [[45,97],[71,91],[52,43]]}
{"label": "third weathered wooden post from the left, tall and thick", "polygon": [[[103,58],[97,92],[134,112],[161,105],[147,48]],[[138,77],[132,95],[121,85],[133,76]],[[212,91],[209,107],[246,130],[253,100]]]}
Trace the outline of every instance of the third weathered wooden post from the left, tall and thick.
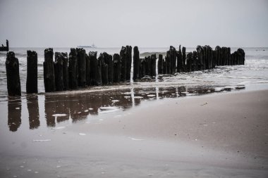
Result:
{"label": "third weathered wooden post from the left, tall and thick", "polygon": [[53,64],[53,49],[44,50],[44,91],[55,91],[55,72]]}

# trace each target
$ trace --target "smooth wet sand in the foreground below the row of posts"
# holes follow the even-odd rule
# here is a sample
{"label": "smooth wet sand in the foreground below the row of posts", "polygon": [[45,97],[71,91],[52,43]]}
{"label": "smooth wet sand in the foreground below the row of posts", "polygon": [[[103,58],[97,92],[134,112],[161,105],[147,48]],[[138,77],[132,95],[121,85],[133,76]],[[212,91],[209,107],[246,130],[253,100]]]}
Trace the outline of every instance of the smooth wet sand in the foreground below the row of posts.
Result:
{"label": "smooth wet sand in the foreground below the row of posts", "polygon": [[[267,96],[268,90],[158,101],[149,97],[138,107],[80,120],[86,116],[79,109],[90,103],[81,97],[68,104],[76,111],[68,113],[65,122],[61,122],[61,117],[54,122],[49,119],[60,105],[47,100],[44,106],[39,104],[40,110],[47,109],[38,115],[39,129],[23,129],[36,128],[33,123],[37,121],[28,117],[36,113],[29,108],[37,106],[30,102],[29,114],[21,113],[21,125],[16,132],[0,131],[0,174],[1,177],[267,177]],[[44,101],[49,97],[39,98]],[[97,96],[94,101],[98,101]],[[25,110],[24,100],[21,103],[20,109]],[[1,111],[5,109],[1,107]],[[64,107],[61,110],[56,113],[64,113]],[[47,127],[42,122],[47,122]],[[8,129],[7,124],[4,127]]]}

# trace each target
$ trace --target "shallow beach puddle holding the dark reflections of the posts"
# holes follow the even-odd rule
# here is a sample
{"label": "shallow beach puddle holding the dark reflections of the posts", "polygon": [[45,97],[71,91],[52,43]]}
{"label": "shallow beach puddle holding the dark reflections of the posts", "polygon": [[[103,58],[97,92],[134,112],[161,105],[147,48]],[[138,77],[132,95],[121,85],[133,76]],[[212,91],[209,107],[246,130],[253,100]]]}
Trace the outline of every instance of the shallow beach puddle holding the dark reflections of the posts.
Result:
{"label": "shallow beach puddle holding the dark reflections of the posts", "polygon": [[[142,102],[159,101],[164,98],[192,97],[202,94],[212,94],[237,89],[245,89],[245,86],[178,86],[178,87],[145,87],[128,88],[106,91],[68,91],[59,94],[26,95],[25,97],[8,98],[8,127],[11,132],[16,132],[22,122],[22,108],[28,110],[29,128],[40,127],[39,114],[45,119],[45,127],[53,127],[62,130],[66,124],[73,124],[82,120],[95,119],[101,124],[105,115],[120,113],[130,108],[139,106]],[[203,105],[206,105],[204,103]],[[202,106],[203,106],[202,105]],[[42,106],[44,110],[39,109]],[[41,112],[41,113],[39,113]],[[43,113],[44,112],[44,113]],[[98,117],[102,115],[102,117]],[[121,113],[119,114],[122,115]],[[113,114],[111,117],[119,117]],[[109,117],[108,117],[109,118]],[[25,122],[25,119],[23,119]],[[36,140],[37,141],[37,140]],[[41,141],[41,140],[38,140]]]}

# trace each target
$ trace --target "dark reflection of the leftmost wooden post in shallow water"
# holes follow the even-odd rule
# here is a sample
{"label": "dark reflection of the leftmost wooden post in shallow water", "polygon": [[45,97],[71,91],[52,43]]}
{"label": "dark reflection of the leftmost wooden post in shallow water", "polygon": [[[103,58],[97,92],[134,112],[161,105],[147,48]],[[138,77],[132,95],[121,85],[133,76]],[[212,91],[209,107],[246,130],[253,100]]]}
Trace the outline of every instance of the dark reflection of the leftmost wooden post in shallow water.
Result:
{"label": "dark reflection of the leftmost wooden post in shallow water", "polygon": [[21,124],[21,99],[8,98],[8,127],[12,132],[16,132]]}

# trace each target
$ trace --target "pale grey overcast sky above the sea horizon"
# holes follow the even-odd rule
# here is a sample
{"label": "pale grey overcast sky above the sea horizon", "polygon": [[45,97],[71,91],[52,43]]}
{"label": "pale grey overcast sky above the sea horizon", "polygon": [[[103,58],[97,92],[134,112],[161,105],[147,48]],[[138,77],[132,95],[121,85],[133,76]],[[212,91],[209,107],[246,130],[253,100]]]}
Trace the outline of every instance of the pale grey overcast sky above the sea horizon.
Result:
{"label": "pale grey overcast sky above the sea horizon", "polygon": [[0,44],[268,46],[268,1],[0,0]]}

